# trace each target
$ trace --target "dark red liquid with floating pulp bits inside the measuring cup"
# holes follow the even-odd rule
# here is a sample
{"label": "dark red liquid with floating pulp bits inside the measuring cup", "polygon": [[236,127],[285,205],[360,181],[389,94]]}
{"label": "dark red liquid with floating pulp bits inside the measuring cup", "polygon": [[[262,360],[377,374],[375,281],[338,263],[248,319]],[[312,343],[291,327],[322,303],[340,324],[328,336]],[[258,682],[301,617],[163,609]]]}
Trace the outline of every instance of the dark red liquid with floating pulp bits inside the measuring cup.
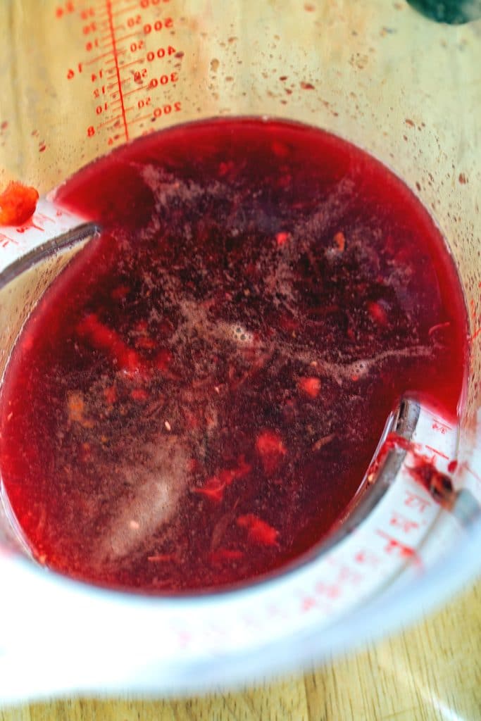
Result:
{"label": "dark red liquid with floating pulp bits inside the measuring cup", "polygon": [[401,394],[456,414],[451,260],[350,144],[177,127],[58,200],[105,232],[37,306],[1,407],[6,492],[49,567],[156,593],[250,580],[326,536]]}

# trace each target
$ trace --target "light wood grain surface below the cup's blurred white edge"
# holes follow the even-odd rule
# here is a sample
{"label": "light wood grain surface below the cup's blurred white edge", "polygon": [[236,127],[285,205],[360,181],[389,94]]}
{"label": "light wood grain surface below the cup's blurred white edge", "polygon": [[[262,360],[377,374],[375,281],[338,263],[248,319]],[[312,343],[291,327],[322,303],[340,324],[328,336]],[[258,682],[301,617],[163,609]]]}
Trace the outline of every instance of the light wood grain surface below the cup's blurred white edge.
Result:
{"label": "light wood grain surface below the cup's blurred white edge", "polygon": [[479,721],[481,582],[410,629],[272,684],[186,699],[62,699],[0,721]]}

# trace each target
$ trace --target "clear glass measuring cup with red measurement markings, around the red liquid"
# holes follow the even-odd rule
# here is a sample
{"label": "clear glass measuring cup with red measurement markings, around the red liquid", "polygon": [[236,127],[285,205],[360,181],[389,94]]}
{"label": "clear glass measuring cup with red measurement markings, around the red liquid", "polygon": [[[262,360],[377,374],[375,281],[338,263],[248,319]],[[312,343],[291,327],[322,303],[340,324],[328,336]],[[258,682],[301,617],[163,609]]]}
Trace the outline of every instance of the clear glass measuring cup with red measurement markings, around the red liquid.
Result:
{"label": "clear glass measuring cup with red measurement markings, around the red liquid", "polygon": [[[16,6],[9,23],[12,37],[29,37],[31,42],[15,62],[10,55],[1,58],[12,79],[1,99],[1,165],[5,179],[17,177],[42,193],[118,143],[213,115],[302,120],[354,141],[394,168],[444,231],[470,311],[472,368],[459,438],[456,429],[444,428],[443,433],[438,423],[441,430],[435,434],[436,441],[422,433],[420,440],[446,456],[456,452],[456,490],[479,498],[480,221],[475,192],[480,168],[476,142],[479,26],[436,25],[405,4],[373,2],[356,8],[345,3],[291,2],[256,7],[244,2],[232,8],[177,0],[47,4],[40,18],[33,4],[25,2]],[[44,35],[50,37],[48,55]],[[23,47],[22,43],[18,46]],[[4,257],[12,254],[9,265],[44,242],[47,234],[63,236],[64,252],[74,252],[69,243],[75,238],[65,234],[82,219],[57,216],[57,211],[53,196],[51,205],[40,207],[43,218],[34,218],[37,227],[1,231]],[[14,280],[4,286],[2,318],[8,322],[1,329],[2,363],[25,314],[67,257],[63,253],[48,256],[48,267],[27,264],[24,273],[14,273]],[[433,420],[423,416],[419,428],[416,424],[418,433],[422,423],[433,425]],[[381,530],[386,534],[391,530],[392,508],[399,510],[403,505],[412,517],[405,516],[404,528],[398,526],[396,535],[389,536],[398,545],[384,538],[383,563],[377,570],[364,569],[369,566],[366,559],[374,562],[373,554],[376,557],[379,549],[361,548],[354,536],[347,539],[354,547],[337,544],[332,554],[294,574],[234,596],[177,602],[116,596],[56,577],[46,579],[17,555],[5,557],[2,573],[9,593],[2,599],[4,614],[12,617],[21,608],[25,621],[21,632],[15,629],[3,637],[9,652],[2,667],[2,678],[8,679],[4,695],[22,693],[18,669],[20,662],[25,668],[25,658],[15,653],[19,633],[35,637],[40,645],[61,649],[62,639],[51,626],[34,627],[30,606],[25,605],[32,588],[37,612],[52,621],[59,613],[66,614],[66,609],[69,616],[85,619],[88,606],[88,622],[93,624],[88,634],[84,623],[74,629],[66,618],[80,659],[88,654],[92,632],[104,641],[98,659],[94,663],[89,659],[88,671],[85,664],[79,668],[67,663],[58,673],[58,665],[50,661],[45,677],[37,677],[37,686],[29,689],[32,693],[48,690],[48,684],[56,684],[51,688],[69,684],[115,688],[115,684],[129,683],[139,689],[193,689],[217,678],[214,657],[218,663],[221,659],[224,676],[239,678],[255,674],[267,663],[270,668],[285,663],[287,646],[291,658],[306,660],[309,654],[315,655],[316,646],[321,655],[349,636],[359,638],[372,627],[379,608],[387,619],[399,619],[409,599],[418,605],[428,596],[439,598],[475,572],[473,547],[479,523],[470,517],[464,522],[460,513],[454,516],[432,505],[429,533],[412,541],[409,522],[416,523],[421,513],[428,513],[425,504],[431,498],[408,498],[405,494],[412,489],[406,486],[393,491],[400,495],[389,495],[387,505],[376,506],[379,523],[387,524]],[[369,527],[379,530],[373,514],[369,519]],[[422,578],[402,556],[403,546],[412,544],[423,547]],[[436,562],[443,547],[450,546],[452,561],[444,559],[443,573]],[[364,560],[356,560],[360,553]],[[459,557],[462,564],[457,562]],[[443,578],[446,574],[449,583]],[[407,585],[410,575],[416,576],[414,587]],[[361,588],[356,583],[365,585]],[[367,603],[386,585],[389,601],[381,596],[374,605]],[[395,585],[405,588],[395,593]],[[356,603],[351,604],[353,588]],[[356,616],[353,607],[363,603],[365,608]],[[128,653],[125,637],[118,635],[118,627],[125,623],[136,627],[142,639],[139,642],[137,637],[136,648],[128,646]],[[159,628],[162,636],[152,631],[160,633]],[[323,645],[319,649],[320,634]],[[118,653],[120,648],[123,653]]]}

